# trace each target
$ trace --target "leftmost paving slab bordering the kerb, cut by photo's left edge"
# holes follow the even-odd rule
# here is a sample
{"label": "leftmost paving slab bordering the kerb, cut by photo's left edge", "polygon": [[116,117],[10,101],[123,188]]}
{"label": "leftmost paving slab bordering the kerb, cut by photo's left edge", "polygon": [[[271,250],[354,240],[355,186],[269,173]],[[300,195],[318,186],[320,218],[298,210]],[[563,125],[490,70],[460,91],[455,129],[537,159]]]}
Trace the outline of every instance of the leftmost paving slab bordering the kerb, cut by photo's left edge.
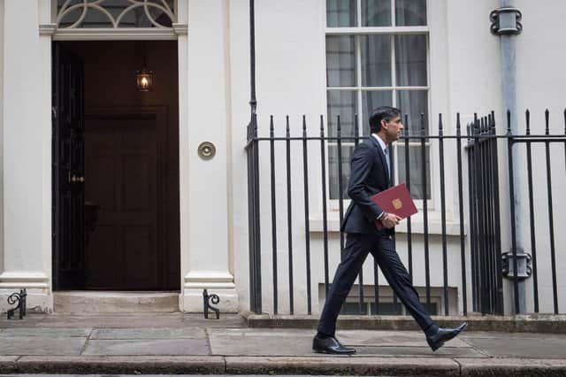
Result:
{"label": "leftmost paving slab bordering the kerb, cut by photo's left edge", "polygon": [[79,355],[86,337],[11,336],[0,342],[0,355]]}

